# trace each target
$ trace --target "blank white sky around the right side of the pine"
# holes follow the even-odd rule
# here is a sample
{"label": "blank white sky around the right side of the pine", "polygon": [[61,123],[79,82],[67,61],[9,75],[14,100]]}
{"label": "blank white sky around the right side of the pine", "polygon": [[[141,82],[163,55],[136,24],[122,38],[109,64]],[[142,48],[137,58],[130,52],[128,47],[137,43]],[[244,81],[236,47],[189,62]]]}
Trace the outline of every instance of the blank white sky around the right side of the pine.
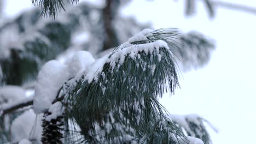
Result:
{"label": "blank white sky around the right side of the pine", "polygon": [[[256,1],[229,2],[256,8]],[[14,16],[30,6],[31,0],[8,0],[5,13]],[[210,130],[214,144],[254,143],[256,15],[219,8],[216,19],[209,20],[199,3],[197,15],[186,19],[183,6],[183,1],[136,0],[123,9],[138,21],[152,21],[154,28],[196,30],[216,40],[217,50],[207,67],[183,73],[181,89],[161,103],[171,113],[199,113],[208,119],[219,128],[219,134]]]}

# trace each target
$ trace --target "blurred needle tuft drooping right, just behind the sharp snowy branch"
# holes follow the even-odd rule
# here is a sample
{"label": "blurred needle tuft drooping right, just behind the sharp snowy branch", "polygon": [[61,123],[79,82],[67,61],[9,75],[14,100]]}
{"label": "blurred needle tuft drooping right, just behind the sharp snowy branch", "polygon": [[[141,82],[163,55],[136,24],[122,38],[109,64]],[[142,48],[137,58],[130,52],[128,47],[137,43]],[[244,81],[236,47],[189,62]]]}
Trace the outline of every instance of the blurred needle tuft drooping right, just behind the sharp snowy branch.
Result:
{"label": "blurred needle tuft drooping right, just behind the sharp snowy branch", "polygon": [[[199,32],[179,34],[163,28],[156,30],[156,33],[149,36],[149,40],[165,40],[173,53],[174,62],[177,62],[179,67],[182,66],[183,70],[203,67],[210,61],[211,52],[215,49],[213,40]],[[168,41],[170,38],[172,40]],[[143,43],[144,41],[138,41],[134,44]]]}

